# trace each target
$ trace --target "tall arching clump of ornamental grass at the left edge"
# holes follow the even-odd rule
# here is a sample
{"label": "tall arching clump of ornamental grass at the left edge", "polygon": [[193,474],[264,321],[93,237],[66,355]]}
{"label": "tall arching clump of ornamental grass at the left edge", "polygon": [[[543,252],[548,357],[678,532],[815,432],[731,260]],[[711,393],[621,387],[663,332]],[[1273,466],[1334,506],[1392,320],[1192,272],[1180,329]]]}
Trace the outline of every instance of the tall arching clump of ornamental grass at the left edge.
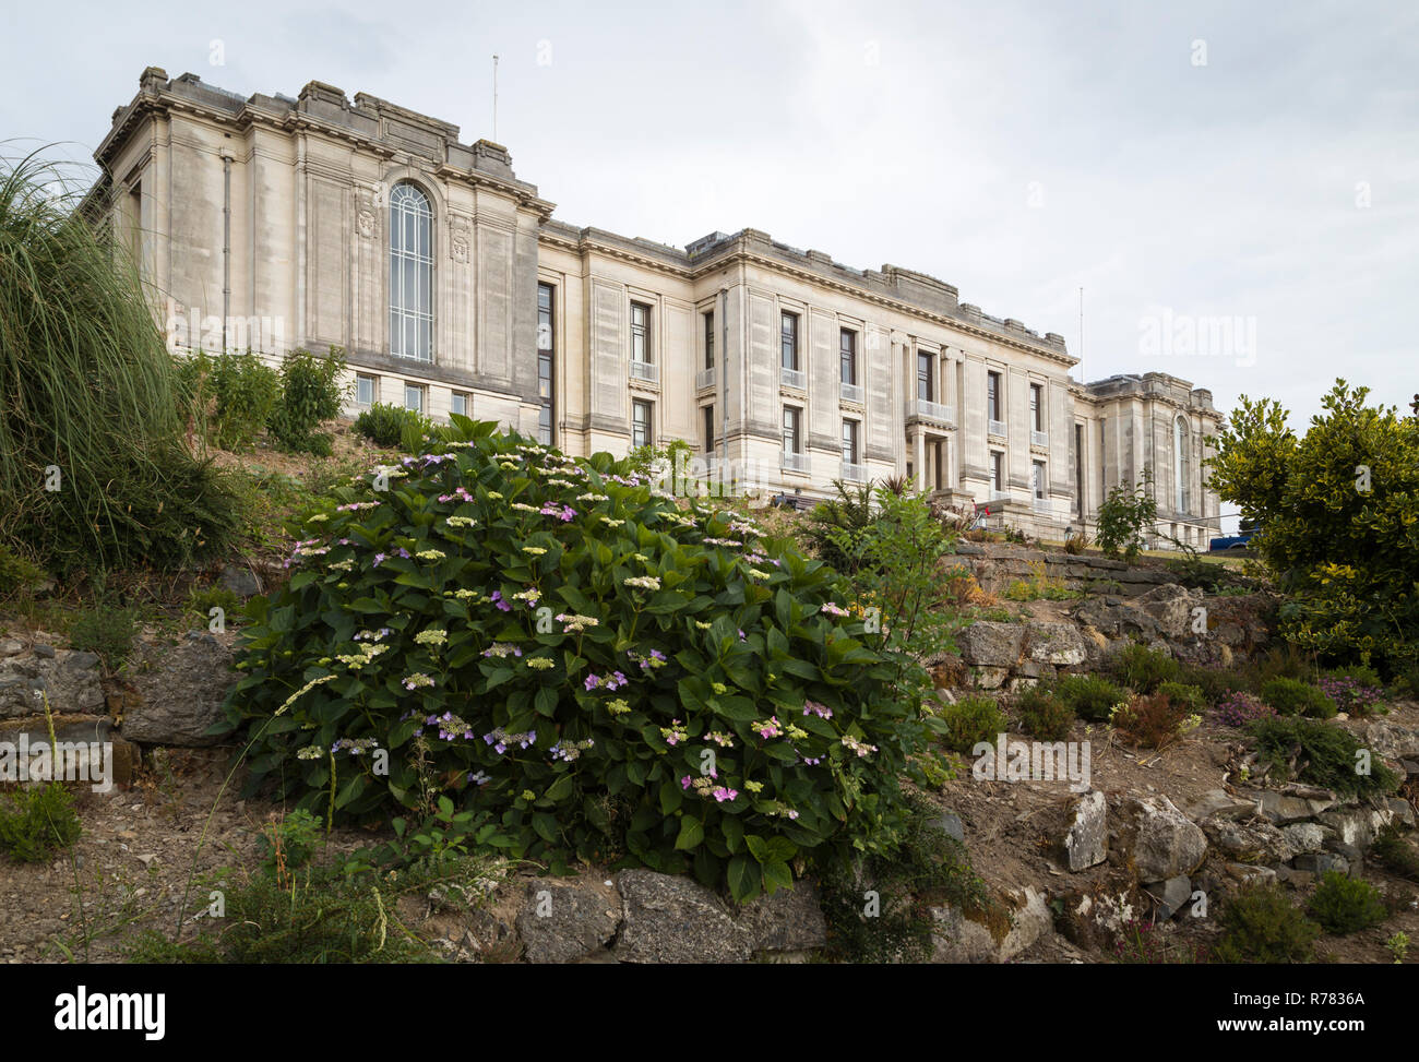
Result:
{"label": "tall arching clump of ornamental grass at the left edge", "polygon": [[221,554],[233,503],[184,443],[173,359],[89,182],[0,159],[0,541],[57,576]]}

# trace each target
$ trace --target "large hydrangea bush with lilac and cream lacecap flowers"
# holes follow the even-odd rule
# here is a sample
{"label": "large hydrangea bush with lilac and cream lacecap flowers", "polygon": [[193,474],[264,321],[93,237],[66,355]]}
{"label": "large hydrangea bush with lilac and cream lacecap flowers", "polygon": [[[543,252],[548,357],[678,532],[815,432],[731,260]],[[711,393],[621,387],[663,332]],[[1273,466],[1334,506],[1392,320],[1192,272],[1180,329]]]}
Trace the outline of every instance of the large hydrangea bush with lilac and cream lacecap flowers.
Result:
{"label": "large hydrangea bush with lilac and cream lacecap flowers", "polygon": [[609,454],[454,422],[311,514],[250,606],[253,791],[359,821],[448,796],[514,856],[741,902],[890,846],[924,727],[830,568]]}

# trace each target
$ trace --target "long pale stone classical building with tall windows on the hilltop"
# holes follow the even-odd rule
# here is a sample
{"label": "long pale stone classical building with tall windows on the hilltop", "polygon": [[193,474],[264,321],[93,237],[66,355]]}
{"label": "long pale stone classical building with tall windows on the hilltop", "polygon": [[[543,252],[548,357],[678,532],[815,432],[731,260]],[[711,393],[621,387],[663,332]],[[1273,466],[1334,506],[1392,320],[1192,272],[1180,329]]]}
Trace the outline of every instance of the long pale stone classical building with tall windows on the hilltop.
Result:
{"label": "long pale stone classical building with tall windows on the hilltop", "polygon": [[572,454],[691,443],[805,497],[910,476],[1042,537],[1149,469],[1159,531],[1218,528],[1210,393],[1083,385],[1063,336],[911,270],[854,270],[744,229],[685,248],[578,229],[505,148],[308,84],[236,94],[148,68],[91,196],[175,349],[343,348],[350,412],[460,412]]}

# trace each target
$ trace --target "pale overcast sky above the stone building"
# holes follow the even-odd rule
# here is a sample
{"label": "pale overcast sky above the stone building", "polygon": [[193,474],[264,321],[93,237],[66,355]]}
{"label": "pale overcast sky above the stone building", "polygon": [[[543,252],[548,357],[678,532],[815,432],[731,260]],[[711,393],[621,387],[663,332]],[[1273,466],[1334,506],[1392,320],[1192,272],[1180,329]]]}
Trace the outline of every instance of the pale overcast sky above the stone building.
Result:
{"label": "pale overcast sky above the stone building", "polygon": [[1416,4],[61,0],[6,17],[0,139],[92,153],[146,65],[241,95],[319,80],[492,139],[497,53],[497,139],[572,224],[681,247],[752,226],[918,270],[1063,334],[1076,378],[1172,372],[1223,410],[1277,398],[1298,429],[1337,375],[1402,409],[1419,392]]}

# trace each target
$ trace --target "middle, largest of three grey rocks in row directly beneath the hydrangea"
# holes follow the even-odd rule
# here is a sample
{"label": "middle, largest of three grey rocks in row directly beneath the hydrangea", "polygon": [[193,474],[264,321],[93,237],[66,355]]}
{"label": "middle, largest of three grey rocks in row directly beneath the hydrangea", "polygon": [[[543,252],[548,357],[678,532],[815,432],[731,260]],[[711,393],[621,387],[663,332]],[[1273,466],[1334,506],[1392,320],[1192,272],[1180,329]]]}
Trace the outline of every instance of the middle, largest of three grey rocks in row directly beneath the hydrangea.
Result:
{"label": "middle, largest of three grey rocks in row directly beneath the hydrangea", "polygon": [[753,953],[728,906],[688,877],[626,870],[616,887],[624,921],[613,954],[623,963],[742,963]]}

